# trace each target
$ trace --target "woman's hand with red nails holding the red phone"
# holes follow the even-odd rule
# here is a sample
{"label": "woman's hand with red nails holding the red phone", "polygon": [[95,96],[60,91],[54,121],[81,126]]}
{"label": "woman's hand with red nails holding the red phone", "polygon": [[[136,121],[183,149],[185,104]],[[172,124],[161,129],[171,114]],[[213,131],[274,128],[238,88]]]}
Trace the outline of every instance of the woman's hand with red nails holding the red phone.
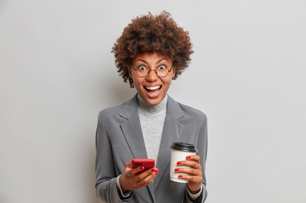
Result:
{"label": "woman's hand with red nails holding the red phone", "polygon": [[148,169],[140,174],[135,175],[135,173],[143,170],[144,167],[140,166],[132,169],[132,163],[128,162],[125,167],[122,175],[119,177],[119,183],[122,192],[127,190],[135,190],[140,187],[149,185],[152,183],[154,178],[158,173],[157,168]]}

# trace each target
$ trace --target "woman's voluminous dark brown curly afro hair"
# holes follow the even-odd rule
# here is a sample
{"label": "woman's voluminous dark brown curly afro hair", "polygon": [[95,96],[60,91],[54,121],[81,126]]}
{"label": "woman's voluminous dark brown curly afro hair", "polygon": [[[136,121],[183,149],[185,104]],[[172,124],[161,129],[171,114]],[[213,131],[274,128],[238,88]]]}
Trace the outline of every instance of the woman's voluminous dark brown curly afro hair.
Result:
{"label": "woman's voluminous dark brown curly afro hair", "polygon": [[114,43],[111,52],[115,55],[117,72],[124,82],[129,80],[131,88],[134,84],[128,67],[138,53],[156,52],[167,55],[172,59],[175,68],[173,79],[189,66],[190,55],[194,53],[188,31],[178,27],[171,14],[166,11],[156,16],[149,12],[148,15],[132,19]]}

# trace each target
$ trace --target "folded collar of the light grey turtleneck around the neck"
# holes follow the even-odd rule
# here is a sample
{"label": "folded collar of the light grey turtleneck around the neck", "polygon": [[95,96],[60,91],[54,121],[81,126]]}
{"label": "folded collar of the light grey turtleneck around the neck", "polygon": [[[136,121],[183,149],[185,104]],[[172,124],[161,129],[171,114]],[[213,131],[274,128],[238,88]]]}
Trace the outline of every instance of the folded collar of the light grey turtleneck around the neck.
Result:
{"label": "folded collar of the light grey turtleneck around the neck", "polygon": [[156,105],[148,104],[145,100],[141,98],[139,94],[137,94],[137,99],[138,99],[138,111],[140,113],[149,116],[159,116],[167,112],[168,94],[166,94],[163,100],[161,100]]}

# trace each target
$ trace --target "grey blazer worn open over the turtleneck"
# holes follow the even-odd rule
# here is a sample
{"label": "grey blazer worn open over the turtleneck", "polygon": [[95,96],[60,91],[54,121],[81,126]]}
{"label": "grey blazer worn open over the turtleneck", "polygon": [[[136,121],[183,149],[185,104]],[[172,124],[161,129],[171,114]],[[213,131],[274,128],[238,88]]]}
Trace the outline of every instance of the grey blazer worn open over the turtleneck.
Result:
{"label": "grey blazer worn open over the turtleneck", "polygon": [[207,118],[197,109],[168,96],[167,113],[158,153],[158,175],[153,183],[121,199],[116,177],[134,158],[146,159],[147,152],[138,115],[137,94],[129,101],[100,111],[96,131],[96,193],[105,203],[192,203],[186,184],[170,181],[170,154],[173,142],[197,145],[203,172],[201,203],[207,196],[205,162],[207,154]]}

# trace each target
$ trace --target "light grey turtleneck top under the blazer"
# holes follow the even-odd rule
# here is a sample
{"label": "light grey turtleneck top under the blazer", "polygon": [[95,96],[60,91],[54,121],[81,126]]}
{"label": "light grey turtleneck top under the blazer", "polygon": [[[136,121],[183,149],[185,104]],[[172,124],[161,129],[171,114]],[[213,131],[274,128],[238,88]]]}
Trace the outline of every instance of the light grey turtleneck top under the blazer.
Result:
{"label": "light grey turtleneck top under the blazer", "polygon": [[148,159],[154,159],[156,166],[166,118],[168,95],[166,94],[163,100],[156,105],[148,104],[139,94],[137,98],[140,125]]}

